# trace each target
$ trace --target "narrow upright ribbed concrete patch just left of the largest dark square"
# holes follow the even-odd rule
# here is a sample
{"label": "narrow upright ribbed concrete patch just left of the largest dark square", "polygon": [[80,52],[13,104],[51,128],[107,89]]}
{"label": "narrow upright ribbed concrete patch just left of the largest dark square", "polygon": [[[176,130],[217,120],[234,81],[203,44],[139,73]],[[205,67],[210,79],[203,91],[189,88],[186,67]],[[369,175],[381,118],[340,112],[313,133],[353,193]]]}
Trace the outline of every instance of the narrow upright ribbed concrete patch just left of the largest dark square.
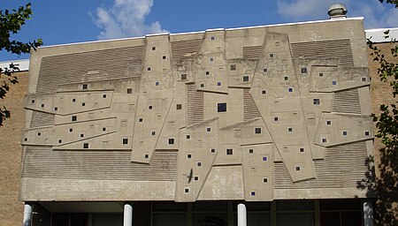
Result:
{"label": "narrow upright ribbed concrete patch just left of the largest dark square", "polygon": [[203,122],[203,92],[197,92],[195,84],[187,86],[188,125]]}

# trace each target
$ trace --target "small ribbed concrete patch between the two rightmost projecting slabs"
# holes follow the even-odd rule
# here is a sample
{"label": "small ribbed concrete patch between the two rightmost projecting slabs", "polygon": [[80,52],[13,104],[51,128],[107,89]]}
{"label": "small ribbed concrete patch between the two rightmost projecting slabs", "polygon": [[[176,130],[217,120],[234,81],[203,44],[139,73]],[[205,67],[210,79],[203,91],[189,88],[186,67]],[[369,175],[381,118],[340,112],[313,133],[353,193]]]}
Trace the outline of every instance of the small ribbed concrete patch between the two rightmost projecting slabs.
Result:
{"label": "small ribbed concrete patch between the two rightmost projecting slabs", "polygon": [[333,112],[361,114],[357,89],[339,91],[333,94]]}

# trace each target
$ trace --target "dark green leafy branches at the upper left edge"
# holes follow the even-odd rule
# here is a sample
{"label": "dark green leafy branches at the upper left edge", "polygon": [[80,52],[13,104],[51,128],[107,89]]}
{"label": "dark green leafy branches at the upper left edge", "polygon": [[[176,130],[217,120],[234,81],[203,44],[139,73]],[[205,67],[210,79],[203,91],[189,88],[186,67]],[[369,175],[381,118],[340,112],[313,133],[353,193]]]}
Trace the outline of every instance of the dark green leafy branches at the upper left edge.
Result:
{"label": "dark green leafy branches at the upper left edge", "polygon": [[[12,39],[12,34],[18,34],[21,26],[27,19],[31,19],[31,4],[20,6],[18,10],[2,10],[0,11],[0,51],[7,51],[11,54],[21,55],[29,53],[31,49],[36,49],[42,45],[42,40],[34,41],[17,41]],[[14,72],[19,72],[16,64],[10,64],[9,67],[0,68],[0,99],[4,99],[10,90],[11,84],[18,83],[18,79]],[[0,126],[3,125],[5,119],[11,117],[11,113],[5,106],[0,106]]]}

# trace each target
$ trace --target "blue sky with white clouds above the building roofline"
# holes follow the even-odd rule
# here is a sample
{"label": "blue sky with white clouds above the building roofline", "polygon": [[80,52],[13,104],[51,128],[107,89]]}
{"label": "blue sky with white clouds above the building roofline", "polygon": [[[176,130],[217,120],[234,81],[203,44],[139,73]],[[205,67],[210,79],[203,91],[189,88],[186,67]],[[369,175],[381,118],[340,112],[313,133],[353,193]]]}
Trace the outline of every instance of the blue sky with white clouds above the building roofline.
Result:
{"label": "blue sky with white clouds above the building roofline", "polygon": [[[348,18],[364,17],[366,29],[398,27],[398,9],[378,0],[0,0],[0,10],[28,2],[32,19],[11,37],[41,38],[44,46],[329,19],[336,2],[347,6]],[[0,61],[28,57],[0,52]]]}

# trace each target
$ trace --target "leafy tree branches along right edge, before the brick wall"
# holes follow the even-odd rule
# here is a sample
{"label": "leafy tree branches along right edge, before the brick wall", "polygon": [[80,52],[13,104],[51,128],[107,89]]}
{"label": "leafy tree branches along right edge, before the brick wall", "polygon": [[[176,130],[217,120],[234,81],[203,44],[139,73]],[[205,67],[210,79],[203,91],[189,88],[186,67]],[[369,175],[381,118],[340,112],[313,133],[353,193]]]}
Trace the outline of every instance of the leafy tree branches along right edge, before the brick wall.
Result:
{"label": "leafy tree branches along right edge, before the brick wall", "polygon": [[[379,0],[379,2],[385,1]],[[386,4],[393,4],[395,8],[398,8],[396,0],[387,0]],[[377,127],[376,137],[381,140],[384,147],[376,150],[379,152],[377,165],[379,173],[377,177],[370,176],[370,196],[376,197],[375,224],[398,225],[398,190],[396,189],[398,186],[398,109],[396,99],[398,94],[398,43],[397,40],[390,37],[389,31],[384,34],[386,41],[390,41],[391,45],[387,52],[379,49],[371,41],[368,42],[373,61],[379,63],[379,79],[388,84],[387,86],[392,90],[391,96],[386,96],[385,100],[393,102],[389,105],[380,104],[379,113],[372,114]]]}

